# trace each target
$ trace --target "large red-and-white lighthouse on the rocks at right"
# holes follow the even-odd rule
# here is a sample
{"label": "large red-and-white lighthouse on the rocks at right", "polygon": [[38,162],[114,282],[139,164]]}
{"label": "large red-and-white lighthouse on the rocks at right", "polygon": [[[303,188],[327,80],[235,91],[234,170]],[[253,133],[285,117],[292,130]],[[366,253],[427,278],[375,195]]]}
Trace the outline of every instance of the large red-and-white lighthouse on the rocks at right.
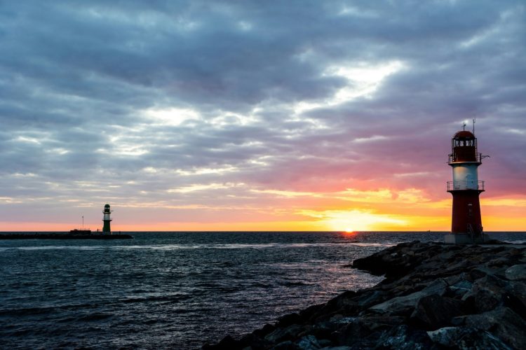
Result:
{"label": "large red-and-white lighthouse on the rocks at right", "polygon": [[[473,120],[473,123],[475,120]],[[453,181],[447,181],[447,192],[453,196],[451,234],[445,243],[473,244],[488,239],[483,232],[479,195],[484,192],[484,181],[478,180],[478,167],[483,156],[478,153],[475,127],[473,132],[464,130],[451,139],[451,154],[447,164],[453,169]]]}

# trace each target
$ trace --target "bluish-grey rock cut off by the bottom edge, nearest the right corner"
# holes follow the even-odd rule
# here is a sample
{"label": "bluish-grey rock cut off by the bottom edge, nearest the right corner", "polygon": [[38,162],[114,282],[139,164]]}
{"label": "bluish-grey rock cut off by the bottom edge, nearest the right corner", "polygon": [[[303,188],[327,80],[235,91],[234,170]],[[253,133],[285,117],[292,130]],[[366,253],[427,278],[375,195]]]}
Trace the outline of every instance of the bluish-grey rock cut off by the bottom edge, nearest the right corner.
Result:
{"label": "bluish-grey rock cut off by the bottom edge, nearest the right corner", "polygon": [[431,341],[457,349],[510,349],[501,339],[486,330],[468,327],[445,327],[427,332]]}

